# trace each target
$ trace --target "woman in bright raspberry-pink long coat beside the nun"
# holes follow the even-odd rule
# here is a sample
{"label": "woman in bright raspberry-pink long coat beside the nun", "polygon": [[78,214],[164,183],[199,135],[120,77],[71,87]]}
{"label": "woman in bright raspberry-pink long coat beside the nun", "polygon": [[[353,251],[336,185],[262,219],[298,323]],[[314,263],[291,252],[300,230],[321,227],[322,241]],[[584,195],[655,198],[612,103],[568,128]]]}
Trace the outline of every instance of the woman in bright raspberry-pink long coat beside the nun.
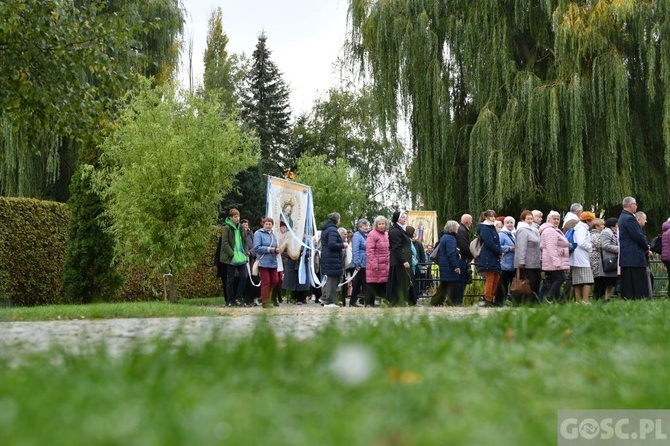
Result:
{"label": "woman in bright raspberry-pink long coat beside the nun", "polygon": [[[386,217],[376,217],[372,224],[372,231],[368,234],[365,244],[365,255],[367,257],[366,281],[373,295],[384,298],[386,296],[386,281],[389,276],[389,238],[386,233],[388,221]],[[375,301],[366,302],[366,306],[373,307]]]}

